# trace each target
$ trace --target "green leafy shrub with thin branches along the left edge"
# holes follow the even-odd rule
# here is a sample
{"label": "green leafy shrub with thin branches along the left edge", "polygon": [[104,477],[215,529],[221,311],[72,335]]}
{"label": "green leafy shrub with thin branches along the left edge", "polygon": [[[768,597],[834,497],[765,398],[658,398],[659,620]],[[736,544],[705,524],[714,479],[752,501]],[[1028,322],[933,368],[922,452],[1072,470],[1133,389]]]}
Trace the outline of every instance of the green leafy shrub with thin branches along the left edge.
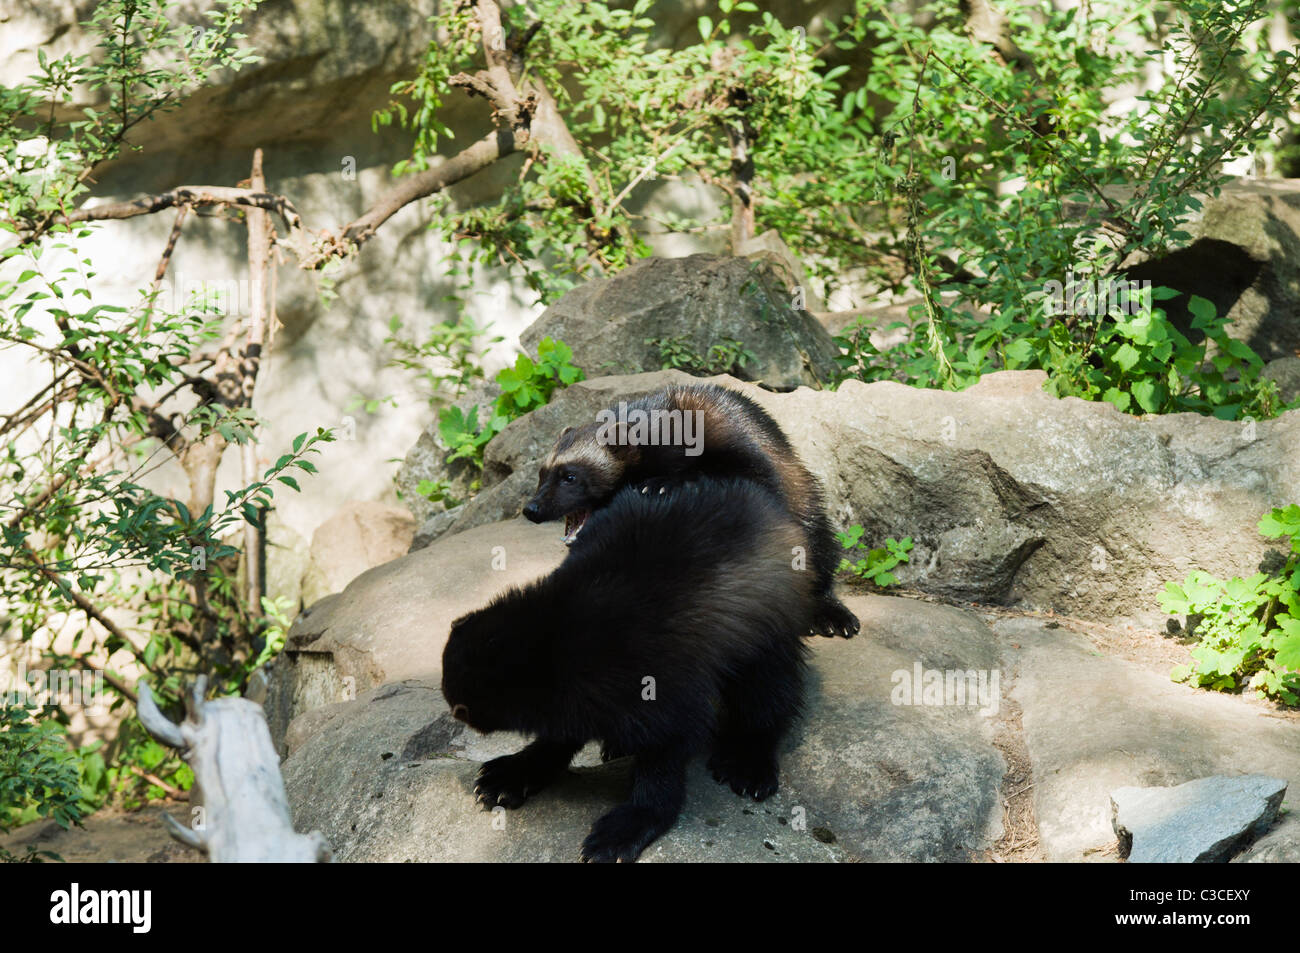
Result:
{"label": "green leafy shrub with thin branches along the left edge", "polygon": [[[299,434],[222,499],[208,473],[231,445],[256,443],[261,425],[259,360],[252,347],[240,352],[251,333],[235,334],[224,317],[247,312],[211,293],[174,302],[165,268],[130,307],[105,304],[94,280],[108,269],[79,250],[112,228],[77,221],[103,165],[139,148],[151,120],[214,75],[257,59],[239,31],[257,0],[208,7],[196,27],[172,0],[91,4],[82,26],[92,52],[42,49],[30,78],[0,88],[0,350],[43,368],[0,413],[0,618],[23,644],[70,634],[44,662],[68,672],[103,666],[112,710],[131,697],[124,662],[177,711],[182,679],[203,671],[217,690],[235,692],[274,650],[281,623],[237,581],[242,542],[233,542],[247,524],[263,525],[281,488],[299,490],[296,472],[313,473],[307,458],[332,439],[324,429]],[[169,256],[170,247],[164,265]],[[218,372],[230,356],[238,373]],[[150,473],[177,463],[190,486],[169,477],[166,493],[151,489]],[[61,716],[55,705],[36,712],[43,731]],[[187,783],[188,768],[150,748],[134,719],[105,751],[81,757],[91,801],[160,796],[139,771],[172,788]]]}

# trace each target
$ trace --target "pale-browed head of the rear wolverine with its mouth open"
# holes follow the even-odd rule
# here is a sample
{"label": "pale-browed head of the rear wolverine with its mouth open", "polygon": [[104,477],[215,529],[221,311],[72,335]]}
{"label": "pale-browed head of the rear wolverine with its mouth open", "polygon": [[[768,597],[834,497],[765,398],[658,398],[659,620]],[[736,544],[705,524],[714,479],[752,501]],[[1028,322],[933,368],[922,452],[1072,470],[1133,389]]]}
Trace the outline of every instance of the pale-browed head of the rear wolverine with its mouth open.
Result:
{"label": "pale-browed head of the rear wolverine with its mouth open", "polygon": [[537,493],[524,506],[533,523],[564,517],[564,542],[573,542],[592,511],[608,502],[623,476],[618,445],[597,439],[598,426],[564,428],[537,475]]}

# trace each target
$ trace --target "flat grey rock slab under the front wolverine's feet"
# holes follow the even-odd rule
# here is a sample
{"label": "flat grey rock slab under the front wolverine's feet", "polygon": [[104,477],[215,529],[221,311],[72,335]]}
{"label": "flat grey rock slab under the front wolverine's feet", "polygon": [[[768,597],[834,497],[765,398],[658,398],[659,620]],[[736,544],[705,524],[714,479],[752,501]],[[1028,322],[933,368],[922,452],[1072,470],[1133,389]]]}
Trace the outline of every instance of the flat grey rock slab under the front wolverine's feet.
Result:
{"label": "flat grey rock slab under the front wolverine's feet", "polygon": [[[957,861],[1000,836],[996,698],[987,714],[974,697],[896,703],[918,663],[996,670],[992,632],[944,606],[846,601],[863,631],[811,640],[809,711],[786,742],[780,790],[755,803],[693,762],[681,819],[642,861]],[[338,861],[576,861],[593,822],[627,797],[628,762],[601,764],[588,746],[523,807],[482,811],[480,764],[524,742],[454,720],[436,677],[308,711],[283,764],[295,827],[324,832]]]}

